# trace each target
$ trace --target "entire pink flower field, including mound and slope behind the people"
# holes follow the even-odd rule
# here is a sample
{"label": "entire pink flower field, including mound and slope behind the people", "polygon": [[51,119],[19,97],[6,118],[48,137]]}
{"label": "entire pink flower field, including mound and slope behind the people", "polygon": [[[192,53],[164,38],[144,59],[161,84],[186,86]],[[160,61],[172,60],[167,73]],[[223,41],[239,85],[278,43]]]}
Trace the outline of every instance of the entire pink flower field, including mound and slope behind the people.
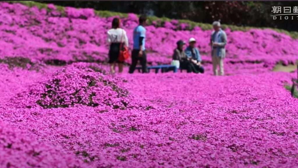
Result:
{"label": "entire pink flower field, including mound and slope behind the people", "polygon": [[[205,74],[108,73],[111,18],[92,9],[0,3],[0,167],[297,167],[298,40],[225,30],[226,76],[212,76],[211,30],[146,26],[148,63],[195,37]],[[132,45],[135,14],[122,18]],[[127,61],[128,63],[131,60]]]}

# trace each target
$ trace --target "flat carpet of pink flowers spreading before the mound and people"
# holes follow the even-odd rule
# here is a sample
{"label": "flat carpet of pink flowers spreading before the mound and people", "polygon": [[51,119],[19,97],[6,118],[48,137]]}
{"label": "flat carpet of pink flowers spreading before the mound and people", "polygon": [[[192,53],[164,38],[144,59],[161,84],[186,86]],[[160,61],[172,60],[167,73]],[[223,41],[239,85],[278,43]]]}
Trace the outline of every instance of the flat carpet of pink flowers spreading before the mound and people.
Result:
{"label": "flat carpet of pink flowers spreading before the mound and people", "polygon": [[0,118],[73,152],[82,167],[292,167],[298,101],[282,86],[291,76],[123,75],[159,108],[4,108]]}

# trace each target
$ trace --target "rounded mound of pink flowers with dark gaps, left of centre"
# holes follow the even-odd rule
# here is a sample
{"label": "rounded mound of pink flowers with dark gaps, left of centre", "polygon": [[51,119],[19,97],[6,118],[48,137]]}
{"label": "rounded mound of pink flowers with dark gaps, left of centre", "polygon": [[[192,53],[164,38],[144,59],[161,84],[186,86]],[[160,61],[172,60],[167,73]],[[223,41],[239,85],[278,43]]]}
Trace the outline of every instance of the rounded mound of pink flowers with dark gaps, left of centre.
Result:
{"label": "rounded mound of pink flowers with dark gaps, left of centre", "polygon": [[[96,64],[78,63],[55,72],[44,82],[19,93],[9,106],[16,108],[66,108],[77,105],[108,106],[113,109],[142,108],[121,83]],[[146,108],[145,106],[143,108]]]}

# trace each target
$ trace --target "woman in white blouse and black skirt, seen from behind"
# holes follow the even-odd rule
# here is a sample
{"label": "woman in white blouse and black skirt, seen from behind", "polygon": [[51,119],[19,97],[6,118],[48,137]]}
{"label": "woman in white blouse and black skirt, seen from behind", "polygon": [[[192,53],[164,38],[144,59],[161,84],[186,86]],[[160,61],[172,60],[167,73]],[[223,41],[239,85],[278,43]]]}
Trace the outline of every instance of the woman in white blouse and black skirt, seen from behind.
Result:
{"label": "woman in white blouse and black skirt, seen from behind", "polygon": [[108,43],[110,45],[109,50],[109,63],[111,73],[115,73],[115,65],[118,63],[119,73],[123,71],[123,62],[118,60],[120,45],[122,44],[128,47],[128,38],[126,31],[120,28],[119,18],[114,18],[112,21],[112,28],[108,30]]}

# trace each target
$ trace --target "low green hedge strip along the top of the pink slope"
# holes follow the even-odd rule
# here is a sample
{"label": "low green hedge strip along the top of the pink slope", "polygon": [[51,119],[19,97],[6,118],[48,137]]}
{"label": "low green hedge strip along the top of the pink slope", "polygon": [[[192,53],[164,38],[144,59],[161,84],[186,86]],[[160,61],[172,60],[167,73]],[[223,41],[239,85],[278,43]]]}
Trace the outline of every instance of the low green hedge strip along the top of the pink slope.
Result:
{"label": "low green hedge strip along the top of the pink slope", "polygon": [[[37,6],[39,9],[42,9],[42,8],[47,9],[47,4],[39,3],[39,2],[35,2],[35,1],[7,1],[7,2],[9,2],[9,3],[20,3],[20,4],[24,4],[28,7]],[[55,6],[57,7],[57,10],[64,13],[64,7],[57,6],[57,5],[55,5]],[[103,10],[94,10],[94,13],[97,16],[100,16],[100,17],[119,16],[121,18],[125,18],[125,17],[128,16],[127,13],[111,12],[111,11],[106,11],[106,10],[104,10],[104,11]],[[162,24],[165,21],[170,21],[171,19],[165,18],[165,17],[158,18],[158,17],[155,17],[155,16],[149,16],[148,17],[149,24],[151,24],[153,21],[158,21],[158,20]],[[193,21],[190,21],[190,20],[178,20],[178,21],[179,21],[179,23],[187,23],[190,26],[190,29],[194,28],[195,26],[199,26],[202,30],[212,29],[211,24],[198,23],[198,22],[193,22]],[[240,26],[234,26],[234,25],[222,25],[222,28],[223,29],[230,28],[231,30],[247,31],[247,30],[253,29],[254,27],[240,27]],[[298,32],[294,32],[294,31],[289,32],[289,31],[286,31],[286,30],[275,29],[275,28],[258,28],[258,29],[271,29],[271,30],[274,30],[278,33],[285,33],[285,34],[291,36],[294,39],[298,39]]]}

